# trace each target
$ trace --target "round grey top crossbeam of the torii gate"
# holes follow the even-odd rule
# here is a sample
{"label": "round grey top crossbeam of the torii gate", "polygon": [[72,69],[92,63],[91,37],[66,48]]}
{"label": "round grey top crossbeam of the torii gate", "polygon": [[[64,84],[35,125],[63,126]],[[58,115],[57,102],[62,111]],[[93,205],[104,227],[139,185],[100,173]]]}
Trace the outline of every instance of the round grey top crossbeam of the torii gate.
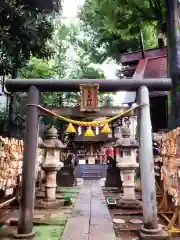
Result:
{"label": "round grey top crossbeam of the torii gate", "polygon": [[143,85],[149,91],[165,91],[171,88],[171,79],[13,79],[6,81],[6,89],[9,92],[27,92],[32,84],[40,92],[79,92],[80,84],[98,84],[101,92],[136,91]]}

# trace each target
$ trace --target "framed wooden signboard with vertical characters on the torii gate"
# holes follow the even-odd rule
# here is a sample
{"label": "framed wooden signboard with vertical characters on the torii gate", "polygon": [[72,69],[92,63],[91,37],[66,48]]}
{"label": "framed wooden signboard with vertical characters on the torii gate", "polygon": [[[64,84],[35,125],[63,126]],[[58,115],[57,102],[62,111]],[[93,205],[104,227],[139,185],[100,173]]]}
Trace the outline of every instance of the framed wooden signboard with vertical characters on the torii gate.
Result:
{"label": "framed wooden signboard with vertical characters on the torii gate", "polygon": [[81,84],[81,111],[97,112],[98,111],[98,84]]}

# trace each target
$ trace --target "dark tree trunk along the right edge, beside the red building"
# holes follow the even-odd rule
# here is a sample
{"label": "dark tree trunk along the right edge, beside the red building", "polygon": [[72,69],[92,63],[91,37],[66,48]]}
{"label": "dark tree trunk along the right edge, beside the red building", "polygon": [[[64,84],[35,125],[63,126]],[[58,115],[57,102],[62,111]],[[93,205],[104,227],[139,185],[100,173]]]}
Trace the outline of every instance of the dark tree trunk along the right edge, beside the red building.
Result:
{"label": "dark tree trunk along the right edge, beside the red building", "polygon": [[177,87],[180,74],[180,29],[178,0],[166,0],[167,40],[168,40],[168,76],[172,78],[171,113],[169,127],[171,129],[180,125],[180,99]]}

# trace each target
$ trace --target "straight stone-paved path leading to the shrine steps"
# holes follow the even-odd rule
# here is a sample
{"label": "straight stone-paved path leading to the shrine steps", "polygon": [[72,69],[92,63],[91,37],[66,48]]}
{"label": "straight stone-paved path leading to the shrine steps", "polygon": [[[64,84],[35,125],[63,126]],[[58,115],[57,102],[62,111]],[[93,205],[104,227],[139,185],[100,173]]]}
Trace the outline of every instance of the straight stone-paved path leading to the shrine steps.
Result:
{"label": "straight stone-paved path leading to the shrine steps", "polygon": [[116,236],[99,180],[86,180],[62,240],[115,240]]}

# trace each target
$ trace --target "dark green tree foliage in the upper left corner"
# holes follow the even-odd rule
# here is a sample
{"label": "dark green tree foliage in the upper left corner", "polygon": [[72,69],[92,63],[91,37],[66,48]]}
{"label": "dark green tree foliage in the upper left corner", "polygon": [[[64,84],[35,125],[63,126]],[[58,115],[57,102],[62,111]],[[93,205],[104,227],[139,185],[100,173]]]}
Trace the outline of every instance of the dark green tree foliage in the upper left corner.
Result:
{"label": "dark green tree foliage in the upper left corner", "polygon": [[38,9],[29,9],[21,1],[0,1],[0,72],[24,66],[30,56],[49,58],[52,49],[47,44],[53,25]]}

